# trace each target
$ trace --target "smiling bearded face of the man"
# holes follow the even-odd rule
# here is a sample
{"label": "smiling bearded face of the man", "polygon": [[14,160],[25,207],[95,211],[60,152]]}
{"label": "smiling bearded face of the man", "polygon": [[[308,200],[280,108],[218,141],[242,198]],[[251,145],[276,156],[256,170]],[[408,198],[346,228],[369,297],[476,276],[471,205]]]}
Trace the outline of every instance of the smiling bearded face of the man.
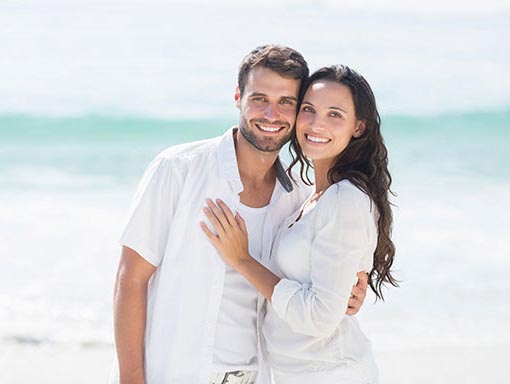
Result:
{"label": "smiling bearded face of the man", "polygon": [[257,150],[277,152],[289,141],[296,120],[300,81],[264,67],[253,68],[241,96],[239,131]]}

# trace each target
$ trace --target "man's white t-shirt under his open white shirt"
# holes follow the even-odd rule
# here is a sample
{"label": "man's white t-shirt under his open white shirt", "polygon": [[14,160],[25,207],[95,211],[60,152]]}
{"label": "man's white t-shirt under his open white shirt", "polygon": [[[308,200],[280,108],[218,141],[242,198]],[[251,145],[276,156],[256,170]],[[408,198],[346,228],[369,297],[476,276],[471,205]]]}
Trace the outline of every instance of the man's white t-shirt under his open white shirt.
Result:
{"label": "man's white t-shirt under his open white shirt", "polygon": [[[250,255],[259,261],[268,207],[252,208],[240,204],[237,209],[250,234]],[[214,339],[213,372],[258,369],[257,295],[255,287],[243,275],[226,266]]]}

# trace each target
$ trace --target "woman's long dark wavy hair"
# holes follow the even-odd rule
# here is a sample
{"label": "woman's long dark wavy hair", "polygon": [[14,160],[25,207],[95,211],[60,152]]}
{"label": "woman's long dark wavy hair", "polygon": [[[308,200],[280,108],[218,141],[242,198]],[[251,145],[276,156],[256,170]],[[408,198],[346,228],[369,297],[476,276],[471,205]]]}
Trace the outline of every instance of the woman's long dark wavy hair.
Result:
{"label": "woman's long dark wavy hair", "polygon": [[[365,192],[377,207],[379,214],[377,247],[374,252],[374,264],[368,275],[368,283],[379,299],[384,300],[382,288],[385,283],[398,286],[391,275],[391,266],[395,256],[395,245],[391,241],[393,215],[388,195],[391,175],[388,170],[388,151],[381,135],[381,118],[377,111],[374,93],[368,82],[356,71],[345,65],[323,67],[314,72],[302,87],[300,102],[306,90],[318,80],[331,81],[346,85],[351,90],[356,111],[356,118],[366,124],[365,132],[358,138],[353,137],[347,147],[337,155],[333,166],[328,171],[331,184],[340,180],[349,180]],[[296,138],[296,130],[291,138],[290,152],[292,168],[300,164],[301,179],[311,185],[308,176],[311,163],[305,157]]]}

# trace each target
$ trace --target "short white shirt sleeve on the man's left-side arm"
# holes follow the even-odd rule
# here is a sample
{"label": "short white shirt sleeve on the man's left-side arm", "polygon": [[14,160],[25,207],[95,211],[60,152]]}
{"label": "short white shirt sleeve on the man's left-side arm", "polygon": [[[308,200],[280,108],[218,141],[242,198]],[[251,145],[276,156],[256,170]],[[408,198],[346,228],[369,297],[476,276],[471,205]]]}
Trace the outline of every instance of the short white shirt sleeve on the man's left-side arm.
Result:
{"label": "short white shirt sleeve on the man's left-side arm", "polygon": [[158,157],[140,181],[119,243],[157,266],[163,258],[177,203],[178,175],[170,160]]}

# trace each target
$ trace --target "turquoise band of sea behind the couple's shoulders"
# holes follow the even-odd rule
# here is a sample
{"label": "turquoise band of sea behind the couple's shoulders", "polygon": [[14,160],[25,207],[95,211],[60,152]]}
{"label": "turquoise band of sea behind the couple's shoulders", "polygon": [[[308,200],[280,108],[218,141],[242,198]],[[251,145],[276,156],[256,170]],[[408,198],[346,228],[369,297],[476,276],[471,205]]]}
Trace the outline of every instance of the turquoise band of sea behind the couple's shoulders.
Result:
{"label": "turquoise band of sea behind the couple's shoulders", "polygon": [[[166,147],[217,136],[235,124],[235,117],[0,116],[0,186],[15,190],[58,183],[51,177],[42,180],[45,172],[82,177],[97,188],[129,184]],[[510,179],[505,166],[509,128],[510,110],[383,118],[397,172],[417,179],[429,172],[434,179],[453,177],[450,182],[462,176],[488,182]],[[288,159],[286,150],[282,154]]]}

